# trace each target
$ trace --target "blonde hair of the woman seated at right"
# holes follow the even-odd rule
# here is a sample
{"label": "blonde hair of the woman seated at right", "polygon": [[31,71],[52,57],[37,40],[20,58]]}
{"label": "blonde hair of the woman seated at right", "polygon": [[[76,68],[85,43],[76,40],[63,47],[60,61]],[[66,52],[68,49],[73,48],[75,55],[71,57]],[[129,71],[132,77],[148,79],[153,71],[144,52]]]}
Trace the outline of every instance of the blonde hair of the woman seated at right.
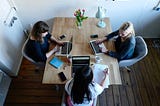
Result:
{"label": "blonde hair of the woman seated at right", "polygon": [[130,21],[123,23],[119,30],[130,32],[131,35],[135,36],[134,27]]}

